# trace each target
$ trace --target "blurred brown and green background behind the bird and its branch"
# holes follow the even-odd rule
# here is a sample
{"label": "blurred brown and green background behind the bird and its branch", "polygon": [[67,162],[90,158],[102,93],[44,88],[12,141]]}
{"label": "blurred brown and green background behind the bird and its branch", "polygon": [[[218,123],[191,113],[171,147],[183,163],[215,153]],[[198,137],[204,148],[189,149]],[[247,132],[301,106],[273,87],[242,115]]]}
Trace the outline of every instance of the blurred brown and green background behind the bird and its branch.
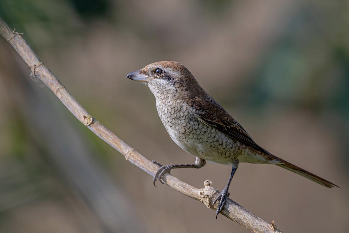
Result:
{"label": "blurred brown and green background behind the bird and its branch", "polygon": [[[241,164],[230,197],[284,232],[346,232],[349,2],[1,0],[0,16],[92,116],[150,160],[190,163],[126,74],[184,64],[268,151],[341,188]],[[248,232],[128,163],[0,38],[0,232]],[[172,174],[221,190],[230,167]]]}

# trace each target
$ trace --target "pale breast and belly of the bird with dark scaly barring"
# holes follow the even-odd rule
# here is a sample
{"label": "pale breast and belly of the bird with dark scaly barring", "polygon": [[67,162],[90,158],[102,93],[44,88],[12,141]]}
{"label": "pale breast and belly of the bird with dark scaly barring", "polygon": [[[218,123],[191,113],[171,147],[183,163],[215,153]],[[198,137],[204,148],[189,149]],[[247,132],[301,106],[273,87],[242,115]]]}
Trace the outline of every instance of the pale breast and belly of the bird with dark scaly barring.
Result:
{"label": "pale breast and belly of the bird with dark scaly barring", "polygon": [[261,155],[248,150],[210,125],[203,124],[183,104],[157,104],[159,117],[172,140],[183,150],[201,159],[221,164],[266,163]]}

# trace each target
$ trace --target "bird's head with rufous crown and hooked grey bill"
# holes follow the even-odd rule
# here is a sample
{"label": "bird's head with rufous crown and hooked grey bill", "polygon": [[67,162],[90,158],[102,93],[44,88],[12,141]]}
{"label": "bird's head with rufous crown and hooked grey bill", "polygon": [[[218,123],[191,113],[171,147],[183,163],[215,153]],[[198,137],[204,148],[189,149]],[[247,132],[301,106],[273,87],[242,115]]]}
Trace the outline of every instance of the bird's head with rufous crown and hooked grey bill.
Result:
{"label": "bird's head with rufous crown and hooked grey bill", "polygon": [[[129,73],[126,78],[146,84],[156,98],[204,93],[192,73],[176,61],[158,61]],[[198,94],[199,94],[198,93]]]}

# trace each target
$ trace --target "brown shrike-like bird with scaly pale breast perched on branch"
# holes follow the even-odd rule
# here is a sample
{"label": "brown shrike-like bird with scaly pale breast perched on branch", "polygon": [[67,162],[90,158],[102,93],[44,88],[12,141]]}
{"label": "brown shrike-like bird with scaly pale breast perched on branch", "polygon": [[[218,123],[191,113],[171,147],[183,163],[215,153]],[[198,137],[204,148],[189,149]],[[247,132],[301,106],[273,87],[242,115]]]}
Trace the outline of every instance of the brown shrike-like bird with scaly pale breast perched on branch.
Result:
{"label": "brown shrike-like bird with scaly pale breast perched on branch", "polygon": [[156,180],[175,168],[201,168],[206,160],[232,167],[227,185],[215,198],[216,218],[224,207],[239,163],[273,164],[325,187],[338,187],[259,146],[250,134],[199,85],[193,74],[176,61],[158,61],[129,73],[126,79],[143,82],[155,96],[158,115],[171,139],[195,156],[193,164],[161,165]]}

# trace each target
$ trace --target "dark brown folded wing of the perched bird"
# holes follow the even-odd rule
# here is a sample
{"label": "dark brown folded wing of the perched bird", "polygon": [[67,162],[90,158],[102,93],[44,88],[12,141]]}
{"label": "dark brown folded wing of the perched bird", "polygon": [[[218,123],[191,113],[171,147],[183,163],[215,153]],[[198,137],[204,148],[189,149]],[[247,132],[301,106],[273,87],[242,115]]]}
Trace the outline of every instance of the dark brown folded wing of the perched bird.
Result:
{"label": "dark brown folded wing of the perched bird", "polygon": [[221,131],[225,135],[240,141],[246,146],[251,146],[261,152],[270,154],[257,145],[246,130],[209,95],[205,98],[192,99],[189,104],[194,109],[195,116],[202,123]]}

